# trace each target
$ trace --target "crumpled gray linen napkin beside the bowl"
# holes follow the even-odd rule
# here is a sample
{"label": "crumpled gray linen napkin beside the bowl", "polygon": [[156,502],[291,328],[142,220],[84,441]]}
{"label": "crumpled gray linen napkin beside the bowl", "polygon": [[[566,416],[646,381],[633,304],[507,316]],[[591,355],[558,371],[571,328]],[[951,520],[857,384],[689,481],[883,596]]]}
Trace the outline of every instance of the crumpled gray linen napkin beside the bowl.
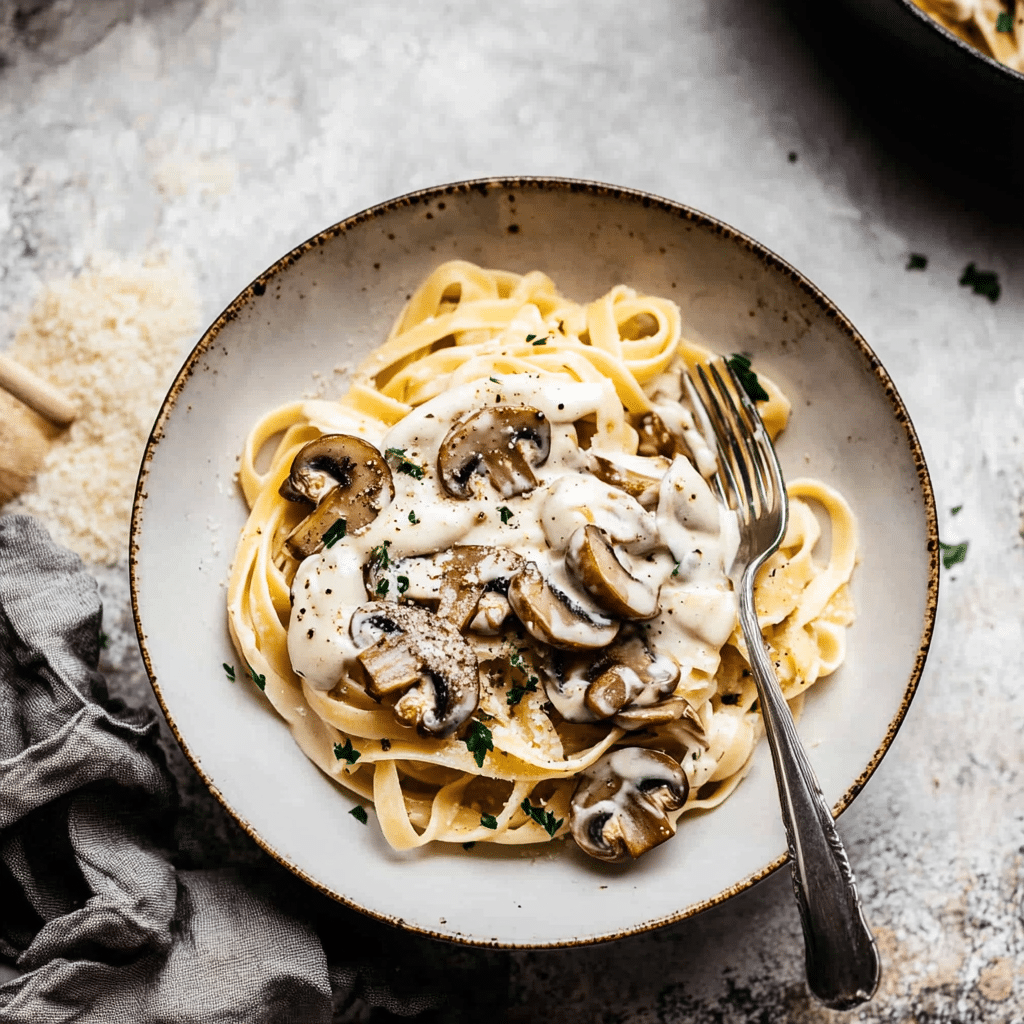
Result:
{"label": "crumpled gray linen napkin beside the bowl", "polygon": [[0,517],[0,956],[24,972],[0,985],[0,1022],[458,1021],[484,1010],[451,997],[474,975],[495,991],[479,957],[458,966],[447,947],[339,907],[268,858],[255,873],[173,866],[158,723],[108,699],[100,616],[77,555],[30,517]]}

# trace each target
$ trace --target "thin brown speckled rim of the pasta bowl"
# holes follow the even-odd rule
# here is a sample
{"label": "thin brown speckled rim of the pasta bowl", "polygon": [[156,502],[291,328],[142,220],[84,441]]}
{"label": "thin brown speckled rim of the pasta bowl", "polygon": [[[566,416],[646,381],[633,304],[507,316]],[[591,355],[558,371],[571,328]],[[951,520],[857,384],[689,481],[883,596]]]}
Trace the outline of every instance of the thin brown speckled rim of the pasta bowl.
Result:
{"label": "thin brown speckled rim of the pasta bowl", "polygon": [[142,512],[146,500],[146,480],[148,478],[150,464],[153,460],[154,453],[156,452],[157,445],[160,443],[163,435],[164,428],[174,411],[175,404],[178,397],[180,396],[182,389],[184,388],[189,377],[196,371],[199,366],[200,359],[206,354],[206,352],[213,345],[218,334],[223,329],[223,327],[230,321],[234,319],[240,311],[245,308],[245,306],[251,302],[254,298],[263,295],[266,292],[267,284],[270,282],[278,273],[280,273],[285,268],[294,264],[297,260],[301,259],[302,256],[322,246],[329,239],[337,238],[338,236],[356,227],[369,220],[374,220],[379,217],[386,216],[388,213],[408,206],[416,206],[420,203],[427,201],[433,201],[438,199],[443,199],[446,196],[467,194],[470,191],[478,191],[486,196],[490,189],[515,189],[515,190],[525,190],[532,189],[537,191],[541,190],[559,190],[569,194],[579,194],[583,196],[591,196],[601,199],[613,199],[617,201],[623,201],[627,203],[637,203],[641,206],[653,207],[654,209],[664,210],[667,213],[674,214],[684,221],[688,221],[693,224],[700,225],[702,227],[710,227],[716,234],[719,234],[725,239],[729,239],[743,246],[749,252],[757,256],[761,262],[771,270],[780,271],[781,273],[788,276],[793,282],[800,286],[800,288],[810,297],[810,299],[817,304],[817,306],[824,312],[824,314],[829,318],[835,321],[835,323],[841,328],[843,334],[850,341],[850,343],[859,350],[867,362],[871,373],[874,375],[876,379],[882,385],[886,396],[889,398],[890,404],[892,406],[893,415],[897,422],[903,427],[903,431],[906,438],[906,443],[910,450],[911,457],[913,459],[914,467],[918,472],[918,480],[921,484],[922,497],[924,499],[925,505],[925,518],[927,523],[927,548],[929,553],[929,573],[928,573],[928,595],[925,604],[925,616],[924,623],[922,625],[921,633],[921,643],[918,648],[918,654],[914,659],[913,669],[910,673],[910,678],[907,681],[906,688],[903,691],[903,698],[900,702],[899,710],[897,711],[895,717],[889,723],[889,728],[886,732],[882,743],[874,752],[871,760],[868,762],[867,766],[857,777],[854,783],[846,791],[846,793],[836,802],[833,807],[833,816],[838,817],[850,806],[853,799],[860,793],[860,791],[867,783],[867,780],[874,773],[878,766],[881,764],[882,759],[888,753],[889,748],[892,745],[893,739],[896,737],[896,733],[899,731],[900,726],[903,724],[903,720],[906,717],[906,713],[910,707],[910,701],[913,699],[913,695],[918,690],[918,685],[921,681],[921,676],[925,668],[925,662],[928,657],[928,650],[932,640],[932,632],[935,626],[935,613],[936,606],[938,604],[939,595],[939,529],[938,529],[938,516],[936,512],[935,505],[935,495],[932,490],[932,482],[928,473],[928,467],[925,462],[925,455],[921,447],[921,442],[918,439],[916,431],[913,428],[913,424],[910,421],[909,414],[906,411],[906,407],[903,404],[903,400],[900,398],[896,386],[893,384],[889,374],[886,372],[882,362],[879,360],[878,356],[871,350],[871,347],[867,342],[860,336],[854,326],[850,321],[840,311],[834,302],[831,302],[817,287],[815,287],[811,282],[809,282],[799,270],[791,266],[785,260],[777,256],[771,250],[767,249],[765,246],[756,242],[754,239],[744,234],[742,231],[736,230],[736,228],[718,220],[715,217],[709,216],[706,213],[701,213],[698,210],[694,210],[692,207],[683,205],[682,203],[676,203],[672,200],[664,199],[659,196],[655,196],[651,193],[641,191],[635,188],[620,187],[617,185],[605,184],[599,181],[589,181],[580,178],[561,178],[561,177],[512,177],[512,178],[474,178],[466,181],[457,181],[451,184],[436,185],[428,188],[421,188],[416,191],[407,193],[403,196],[399,196],[395,199],[389,200],[386,203],[381,203],[377,206],[372,206],[369,209],[362,210],[359,213],[353,214],[347,217],[345,220],[339,221],[333,224],[331,227],[325,228],[323,231],[317,232],[303,242],[301,245],[296,246],[291,252],[287,253],[276,262],[274,262],[270,267],[268,267],[263,273],[261,273],[255,281],[248,285],[243,291],[228,304],[222,313],[210,325],[206,333],[199,340],[196,347],[191,350],[191,353],[185,359],[183,366],[178,371],[177,376],[174,379],[170,390],[167,393],[167,397],[164,399],[161,406],[160,413],[157,417],[157,421],[153,427],[153,431],[150,434],[150,438],[145,445],[145,453],[142,457],[142,464],[139,469],[138,482],[135,487],[135,499],[132,506],[132,520],[131,520],[131,534],[129,541],[129,556],[128,556],[128,567],[131,583],[131,604],[132,604],[132,615],[135,622],[135,630],[138,636],[139,649],[141,650],[142,660],[145,664],[146,674],[150,677],[150,682],[153,686],[154,692],[156,694],[157,700],[160,703],[161,709],[164,712],[164,716],[167,719],[167,724],[170,726],[171,732],[174,738],[177,740],[181,748],[182,753],[188,760],[189,764],[199,774],[200,778],[206,783],[207,787],[213,794],[213,796],[220,802],[224,810],[234,819],[234,821],[243,828],[243,830],[260,847],[262,848],[270,857],[272,857],[282,866],[288,868],[292,873],[296,874],[298,878],[302,879],[303,882],[307,883],[316,891],[323,893],[326,896],[343,903],[352,909],[358,910],[361,913],[366,913],[371,918],[375,918],[378,921],[385,922],[390,925],[395,925],[397,927],[403,928],[407,931],[415,932],[421,935],[429,936],[434,939],[441,939],[447,942],[455,942],[460,945],[469,946],[480,946],[497,949],[540,949],[540,948],[568,948],[573,946],[585,946],[594,945],[598,942],[609,942],[614,939],[626,938],[631,935],[639,935],[644,932],[652,931],[657,928],[662,928],[666,925],[671,925],[679,921],[683,921],[687,918],[692,918],[701,911],[716,906],[720,903],[724,903],[726,900],[738,895],[746,889],[750,889],[755,883],[760,882],[762,879],[767,878],[773,871],[776,871],[781,867],[788,859],[788,854],[782,854],[775,860],[770,861],[763,868],[758,871],[753,872],[745,879],[740,880],[734,885],[718,893],[711,899],[703,900],[697,903],[690,904],[681,910],[674,911],[672,913],[666,914],[664,918],[659,918],[652,921],[641,922],[635,927],[624,930],[613,935],[602,935],[596,937],[588,937],[586,939],[579,939],[575,941],[564,941],[564,942],[544,942],[544,943],[530,943],[530,942],[495,942],[485,941],[469,938],[466,936],[453,936],[443,934],[440,932],[433,931],[429,928],[421,928],[416,925],[412,925],[409,922],[403,921],[400,918],[393,916],[391,914],[381,913],[368,907],[364,907],[355,901],[343,896],[340,893],[335,892],[333,889],[325,886],[323,883],[318,882],[316,879],[311,878],[305,871],[303,871],[296,864],[292,863],[286,857],[283,857],[278,853],[274,848],[267,843],[256,829],[243,818],[231,806],[228,804],[227,800],[223,797],[217,787],[216,782],[210,778],[201,767],[199,760],[194,756],[189,750],[184,737],[181,735],[178,727],[171,715],[170,709],[168,708],[164,695],[161,692],[160,684],[157,682],[156,674],[153,671],[153,665],[150,660],[150,652],[146,649],[144,633],[142,631],[142,623],[139,615],[138,608],[138,535],[141,528],[142,522]]}

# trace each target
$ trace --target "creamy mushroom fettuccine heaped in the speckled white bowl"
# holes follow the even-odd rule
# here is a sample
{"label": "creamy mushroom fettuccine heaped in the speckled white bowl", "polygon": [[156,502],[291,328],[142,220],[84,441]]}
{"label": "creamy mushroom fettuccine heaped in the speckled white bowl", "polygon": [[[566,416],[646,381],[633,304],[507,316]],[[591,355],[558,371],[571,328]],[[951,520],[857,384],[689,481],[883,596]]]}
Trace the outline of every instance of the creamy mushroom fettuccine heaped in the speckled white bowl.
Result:
{"label": "creamy mushroom fettuccine heaped in the speckled white bowl", "polygon": [[[571,836],[624,860],[743,777],[760,719],[738,535],[681,397],[710,354],[667,299],[581,305],[544,273],[453,261],[345,397],[253,429],[234,645],[393,847]],[[754,380],[775,435],[788,402]],[[799,711],[844,657],[856,527],[823,483],[788,493],[756,602]]]}

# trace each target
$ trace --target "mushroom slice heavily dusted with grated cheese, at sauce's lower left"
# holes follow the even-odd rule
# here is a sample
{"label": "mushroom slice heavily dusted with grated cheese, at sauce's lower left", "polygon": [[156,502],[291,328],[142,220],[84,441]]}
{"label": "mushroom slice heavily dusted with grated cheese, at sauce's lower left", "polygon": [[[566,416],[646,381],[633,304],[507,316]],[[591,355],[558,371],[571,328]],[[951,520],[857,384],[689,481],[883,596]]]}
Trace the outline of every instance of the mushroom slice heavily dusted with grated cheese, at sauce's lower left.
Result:
{"label": "mushroom slice heavily dusted with grated cheese, at sauce's lower left", "polygon": [[446,620],[415,605],[373,601],[349,625],[366,670],[367,691],[380,699],[402,691],[395,718],[425,736],[450,736],[476,711],[476,654]]}

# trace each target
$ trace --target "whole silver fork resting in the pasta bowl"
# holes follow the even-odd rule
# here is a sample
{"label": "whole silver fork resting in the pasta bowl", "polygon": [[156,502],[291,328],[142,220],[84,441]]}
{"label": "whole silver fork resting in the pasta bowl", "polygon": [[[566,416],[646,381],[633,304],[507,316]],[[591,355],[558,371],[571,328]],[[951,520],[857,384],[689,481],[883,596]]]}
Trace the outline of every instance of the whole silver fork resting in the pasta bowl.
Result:
{"label": "whole silver fork resting in the pasta bowl", "polygon": [[775,766],[793,887],[804,926],[807,983],[825,1006],[848,1010],[869,999],[878,988],[878,947],[843,841],[800,741],[754,610],[754,578],[782,543],[788,521],[782,471],[754,402],[726,362],[715,360],[707,370],[698,366],[696,379],[692,374],[683,379],[718,450],[718,472],[712,483],[739,520],[739,549],[729,574],[739,594],[739,622]]}

